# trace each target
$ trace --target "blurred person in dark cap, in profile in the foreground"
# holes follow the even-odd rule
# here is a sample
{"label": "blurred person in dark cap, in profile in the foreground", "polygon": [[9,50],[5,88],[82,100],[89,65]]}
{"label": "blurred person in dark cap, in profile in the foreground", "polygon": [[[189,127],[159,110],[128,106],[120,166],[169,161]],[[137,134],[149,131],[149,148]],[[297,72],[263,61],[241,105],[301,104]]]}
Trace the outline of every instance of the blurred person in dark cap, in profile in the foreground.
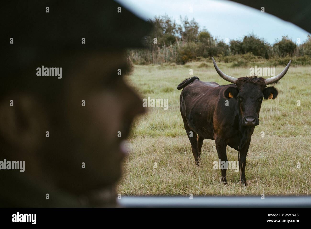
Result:
{"label": "blurred person in dark cap, in profile in the foreground", "polygon": [[0,207],[116,206],[123,140],[144,112],[123,79],[126,49],[143,47],[151,24],[113,1],[0,11]]}

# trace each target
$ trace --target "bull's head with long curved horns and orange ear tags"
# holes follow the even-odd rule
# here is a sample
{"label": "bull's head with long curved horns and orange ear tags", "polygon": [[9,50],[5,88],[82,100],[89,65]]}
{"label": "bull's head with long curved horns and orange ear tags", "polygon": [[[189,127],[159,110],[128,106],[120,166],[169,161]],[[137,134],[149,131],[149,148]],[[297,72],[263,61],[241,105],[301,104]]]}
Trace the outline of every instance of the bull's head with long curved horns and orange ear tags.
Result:
{"label": "bull's head with long curved horns and orange ear tags", "polygon": [[257,126],[259,125],[259,111],[262,103],[262,98],[275,99],[278,92],[274,87],[267,87],[268,84],[276,83],[280,80],[287,72],[290,67],[290,62],[287,64],[285,69],[269,79],[262,77],[241,77],[234,78],[232,76],[224,74],[218,68],[214,58],[214,67],[217,73],[222,79],[230,83],[234,83],[231,87],[227,88],[224,92],[224,96],[227,99],[233,98],[238,100],[239,110],[241,114],[241,125],[242,126]]}

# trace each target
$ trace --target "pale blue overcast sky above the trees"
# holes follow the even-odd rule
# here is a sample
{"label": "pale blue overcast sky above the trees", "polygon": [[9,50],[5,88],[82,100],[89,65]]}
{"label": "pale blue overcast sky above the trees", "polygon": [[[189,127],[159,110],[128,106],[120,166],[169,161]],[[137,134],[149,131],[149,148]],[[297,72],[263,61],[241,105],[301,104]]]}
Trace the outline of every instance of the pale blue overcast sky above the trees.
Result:
{"label": "pale blue overcast sky above the trees", "polygon": [[[188,16],[204,26],[217,39],[243,39],[244,35],[254,33],[270,44],[288,35],[292,41],[301,43],[307,39],[308,32],[290,22],[260,10],[226,0],[117,0],[138,16],[148,19],[165,13],[179,24],[179,16]],[[193,12],[190,12],[192,7]]]}

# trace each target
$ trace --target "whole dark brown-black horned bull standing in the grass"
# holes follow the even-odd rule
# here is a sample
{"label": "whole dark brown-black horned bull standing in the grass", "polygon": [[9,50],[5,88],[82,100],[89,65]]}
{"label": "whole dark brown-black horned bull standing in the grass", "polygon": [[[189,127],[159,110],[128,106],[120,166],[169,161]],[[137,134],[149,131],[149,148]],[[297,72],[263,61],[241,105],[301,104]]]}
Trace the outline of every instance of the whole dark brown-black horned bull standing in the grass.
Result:
{"label": "whole dark brown-black horned bull standing in the grass", "polygon": [[[180,113],[196,164],[199,164],[203,140],[215,140],[221,162],[228,161],[226,146],[238,150],[240,181],[246,184],[246,155],[254,128],[259,125],[262,98],[275,99],[278,95],[276,88],[266,85],[281,79],[290,62],[281,74],[269,79],[230,77],[220,71],[214,59],[213,62],[217,73],[234,84],[220,86],[215,82],[202,82],[195,76],[184,80],[177,87],[183,88]],[[224,167],[221,168],[221,181],[227,182]]]}

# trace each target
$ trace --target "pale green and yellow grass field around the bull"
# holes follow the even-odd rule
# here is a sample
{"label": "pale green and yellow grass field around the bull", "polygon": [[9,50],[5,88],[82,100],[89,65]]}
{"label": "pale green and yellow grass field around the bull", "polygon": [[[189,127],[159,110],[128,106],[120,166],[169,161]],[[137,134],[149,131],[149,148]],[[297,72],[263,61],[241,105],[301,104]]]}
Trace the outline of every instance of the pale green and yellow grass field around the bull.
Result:
{"label": "pale green and yellow grass field around the bull", "polygon": [[[267,67],[258,63],[258,67]],[[248,68],[218,63],[236,78],[249,75]],[[277,66],[279,74],[285,66]],[[189,75],[193,69],[193,75]],[[185,65],[135,65],[128,83],[142,98],[168,98],[169,107],[150,107],[138,117],[129,137],[132,150],[123,164],[117,186],[121,195],[309,195],[311,193],[311,68],[291,66],[275,87],[279,95],[264,100],[246,159],[247,186],[239,185],[239,172],[227,170],[228,184],[220,183],[215,141],[204,140],[201,164],[195,165],[191,145],[179,110],[177,85],[189,76],[228,84],[210,62]],[[300,100],[300,106],[297,106]],[[261,136],[264,131],[265,136]],[[227,146],[228,160],[238,160]],[[156,168],[154,168],[156,163]],[[300,168],[297,168],[300,163]]]}

